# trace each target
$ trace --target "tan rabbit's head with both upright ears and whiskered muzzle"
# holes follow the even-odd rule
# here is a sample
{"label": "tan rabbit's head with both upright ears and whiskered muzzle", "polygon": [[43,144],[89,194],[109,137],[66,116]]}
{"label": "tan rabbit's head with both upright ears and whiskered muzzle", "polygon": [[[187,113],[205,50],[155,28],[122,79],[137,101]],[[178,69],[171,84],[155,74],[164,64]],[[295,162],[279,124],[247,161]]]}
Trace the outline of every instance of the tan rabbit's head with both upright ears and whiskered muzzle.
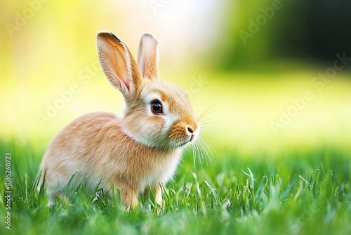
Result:
{"label": "tan rabbit's head with both upright ears and whiskered muzzle", "polygon": [[121,128],[131,139],[154,148],[192,143],[200,124],[187,94],[158,78],[157,40],[144,34],[138,65],[128,47],[111,32],[98,32],[98,56],[107,80],[124,96]]}

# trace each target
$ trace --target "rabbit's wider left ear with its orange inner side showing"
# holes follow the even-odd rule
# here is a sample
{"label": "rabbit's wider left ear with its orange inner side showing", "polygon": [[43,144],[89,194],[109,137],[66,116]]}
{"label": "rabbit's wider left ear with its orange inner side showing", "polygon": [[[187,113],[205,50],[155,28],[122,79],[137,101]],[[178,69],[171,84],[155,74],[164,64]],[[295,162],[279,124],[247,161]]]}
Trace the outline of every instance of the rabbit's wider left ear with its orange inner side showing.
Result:
{"label": "rabbit's wider left ear with its orange inner side showing", "polygon": [[96,43],[100,65],[107,80],[125,97],[133,96],[142,78],[128,47],[106,31],[98,32]]}

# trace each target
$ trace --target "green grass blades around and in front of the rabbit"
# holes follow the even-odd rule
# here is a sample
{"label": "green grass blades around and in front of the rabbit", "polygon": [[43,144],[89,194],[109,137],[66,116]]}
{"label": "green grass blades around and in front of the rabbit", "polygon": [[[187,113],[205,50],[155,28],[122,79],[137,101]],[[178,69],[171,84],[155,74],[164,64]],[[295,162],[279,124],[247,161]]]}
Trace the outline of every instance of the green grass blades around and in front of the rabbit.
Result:
{"label": "green grass blades around and in front of the rabbit", "polygon": [[[81,188],[49,208],[36,188],[41,155],[28,144],[1,144],[0,234],[350,234],[351,154],[338,148],[286,151],[278,157],[213,150],[213,164],[193,167],[187,153],[163,191],[124,212]],[[4,217],[4,157],[11,153],[11,231]],[[95,199],[95,200],[94,200]]]}

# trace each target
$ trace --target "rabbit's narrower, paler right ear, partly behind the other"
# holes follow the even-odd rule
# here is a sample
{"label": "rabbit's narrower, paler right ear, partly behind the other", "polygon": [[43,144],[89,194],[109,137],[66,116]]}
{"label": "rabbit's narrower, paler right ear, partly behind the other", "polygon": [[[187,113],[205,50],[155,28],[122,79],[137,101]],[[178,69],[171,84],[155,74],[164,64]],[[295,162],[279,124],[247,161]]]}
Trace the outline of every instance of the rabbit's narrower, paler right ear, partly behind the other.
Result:
{"label": "rabbit's narrower, paler right ear, partly behind the other", "polygon": [[151,34],[144,34],[140,39],[138,65],[143,78],[158,79],[157,40]]}

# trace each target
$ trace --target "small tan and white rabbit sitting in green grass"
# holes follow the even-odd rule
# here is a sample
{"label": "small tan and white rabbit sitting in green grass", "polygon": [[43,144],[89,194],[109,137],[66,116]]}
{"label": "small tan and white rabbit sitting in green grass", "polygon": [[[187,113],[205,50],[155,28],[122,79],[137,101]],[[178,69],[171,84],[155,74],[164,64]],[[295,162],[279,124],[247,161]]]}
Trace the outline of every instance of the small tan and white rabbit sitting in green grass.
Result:
{"label": "small tan and white rabbit sitting in green grass", "polygon": [[152,35],[140,40],[138,65],[112,32],[98,32],[96,42],[105,77],[124,97],[122,115],[88,113],[63,128],[44,154],[38,189],[46,189],[50,205],[87,179],[88,189],[118,189],[130,210],[152,186],[156,203],[163,205],[161,186],[175,174],[201,125],[185,91],[159,80]]}

